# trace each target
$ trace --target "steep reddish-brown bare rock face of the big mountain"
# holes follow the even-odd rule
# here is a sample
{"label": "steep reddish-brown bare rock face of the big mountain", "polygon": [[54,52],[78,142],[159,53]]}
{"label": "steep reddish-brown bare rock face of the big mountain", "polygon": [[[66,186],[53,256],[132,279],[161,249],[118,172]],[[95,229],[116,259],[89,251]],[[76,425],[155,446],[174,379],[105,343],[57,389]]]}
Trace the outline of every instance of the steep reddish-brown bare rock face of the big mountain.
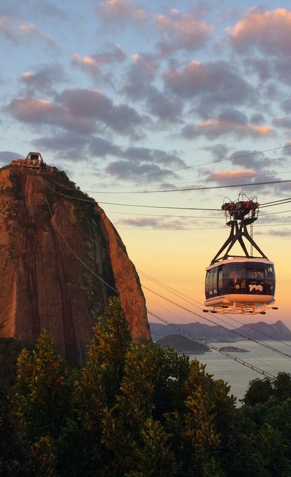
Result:
{"label": "steep reddish-brown bare rock face of the big mountain", "polygon": [[57,169],[0,171],[0,337],[33,342],[46,327],[75,363],[113,289],[134,341],[150,338],[126,248],[98,204],[84,199]]}

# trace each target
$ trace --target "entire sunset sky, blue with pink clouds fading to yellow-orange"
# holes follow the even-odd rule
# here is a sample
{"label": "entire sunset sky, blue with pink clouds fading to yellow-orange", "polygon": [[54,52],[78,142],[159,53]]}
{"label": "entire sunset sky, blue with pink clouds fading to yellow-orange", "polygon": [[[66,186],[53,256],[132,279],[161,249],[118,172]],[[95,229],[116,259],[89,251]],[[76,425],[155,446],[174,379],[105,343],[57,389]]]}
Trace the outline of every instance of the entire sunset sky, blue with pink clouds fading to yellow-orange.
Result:
{"label": "entire sunset sky, blue with pink clouds fading to yellow-orange", "polygon": [[[148,309],[170,322],[202,319],[150,290],[201,314],[157,281],[203,303],[205,268],[229,233],[225,197],[291,196],[288,182],[258,184],[291,180],[289,8],[0,3],[0,166],[39,151],[88,191],[123,239]],[[279,310],[243,323],[291,327],[289,209],[261,208],[253,230],[275,263]]]}

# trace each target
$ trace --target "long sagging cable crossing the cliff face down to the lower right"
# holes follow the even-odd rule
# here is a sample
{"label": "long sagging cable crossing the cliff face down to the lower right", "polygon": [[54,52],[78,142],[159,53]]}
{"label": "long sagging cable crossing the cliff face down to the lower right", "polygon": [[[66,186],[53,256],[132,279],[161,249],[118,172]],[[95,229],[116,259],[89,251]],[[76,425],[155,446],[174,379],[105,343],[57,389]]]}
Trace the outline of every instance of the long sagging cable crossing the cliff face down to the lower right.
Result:
{"label": "long sagging cable crossing the cliff face down to the lower right", "polygon": [[[43,182],[43,181],[42,181]],[[192,335],[191,333],[187,333],[185,332],[184,330],[180,329],[178,326],[174,325],[174,324],[171,324],[170,322],[168,322],[167,320],[165,320],[164,318],[160,317],[159,315],[157,315],[156,313],[153,313],[152,311],[149,311],[147,310],[146,308],[138,305],[137,303],[135,303],[133,300],[130,300],[126,295],[124,295],[123,293],[120,293],[118,290],[116,290],[114,287],[112,287],[109,283],[107,283],[105,280],[103,280],[103,278],[101,278],[97,273],[93,272],[93,270],[90,269],[90,267],[88,267],[86,265],[86,263],[74,252],[74,250],[71,248],[71,246],[68,244],[67,240],[65,239],[65,237],[63,236],[62,232],[60,231],[54,217],[53,217],[53,214],[52,214],[52,211],[51,211],[51,208],[49,206],[49,201],[48,201],[48,198],[47,198],[47,194],[46,194],[46,190],[45,190],[45,186],[44,186],[44,183],[43,183],[43,190],[44,190],[44,195],[45,195],[45,198],[46,198],[46,202],[47,202],[47,205],[48,205],[48,208],[49,208],[49,213],[51,215],[51,218],[52,220],[54,221],[54,224],[55,224],[55,227],[56,229],[58,230],[60,236],[62,237],[62,239],[64,240],[66,246],[69,248],[69,250],[72,252],[72,254],[77,258],[77,260],[80,261],[80,263],[90,272],[92,273],[96,278],[98,278],[98,280],[100,280],[104,285],[106,285],[108,288],[110,288],[111,290],[113,290],[115,293],[117,293],[118,295],[120,296],[123,296],[126,300],[128,300],[129,302],[131,302],[134,306],[146,311],[146,313],[148,313],[149,315],[153,316],[154,318],[157,318],[158,320],[162,321],[163,323],[166,323],[170,326],[172,326],[173,328],[175,329],[178,329],[179,331],[181,331],[182,333],[184,333],[185,335],[187,335],[189,338],[192,338],[193,340],[195,341],[199,341],[200,343],[203,343],[203,344],[206,344],[210,349],[213,349],[215,351],[217,351],[218,353],[221,353],[222,355],[224,356],[227,356],[227,358],[230,358],[230,359],[233,359],[234,361],[237,361],[238,363],[242,364],[243,366],[246,366],[254,371],[256,371],[257,373],[261,374],[261,375],[264,375],[264,376],[267,376],[271,379],[275,379],[275,376],[274,375],[271,375],[270,373],[268,373],[267,371],[264,371],[260,368],[258,368],[257,366],[254,366],[253,364],[251,363],[248,363],[247,361],[244,361],[242,360],[241,358],[237,358],[236,356],[233,356],[231,355],[230,353],[227,353],[226,351],[222,351],[221,349],[217,348],[216,346],[213,346],[212,344],[210,344],[207,340],[201,340],[200,338],[197,338],[195,337],[194,335]]]}

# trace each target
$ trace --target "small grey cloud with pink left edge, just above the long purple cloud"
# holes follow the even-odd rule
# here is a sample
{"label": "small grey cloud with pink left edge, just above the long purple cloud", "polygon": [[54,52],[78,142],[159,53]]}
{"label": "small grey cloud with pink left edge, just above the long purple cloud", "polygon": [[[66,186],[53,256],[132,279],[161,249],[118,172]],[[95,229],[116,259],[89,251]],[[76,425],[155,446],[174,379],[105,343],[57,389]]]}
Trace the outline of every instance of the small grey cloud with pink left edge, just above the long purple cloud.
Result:
{"label": "small grey cloud with pink left edge, just above the long purple cloud", "polygon": [[34,72],[25,71],[20,77],[21,84],[25,86],[30,96],[36,91],[52,94],[53,86],[65,81],[67,77],[64,67],[58,63],[43,66]]}

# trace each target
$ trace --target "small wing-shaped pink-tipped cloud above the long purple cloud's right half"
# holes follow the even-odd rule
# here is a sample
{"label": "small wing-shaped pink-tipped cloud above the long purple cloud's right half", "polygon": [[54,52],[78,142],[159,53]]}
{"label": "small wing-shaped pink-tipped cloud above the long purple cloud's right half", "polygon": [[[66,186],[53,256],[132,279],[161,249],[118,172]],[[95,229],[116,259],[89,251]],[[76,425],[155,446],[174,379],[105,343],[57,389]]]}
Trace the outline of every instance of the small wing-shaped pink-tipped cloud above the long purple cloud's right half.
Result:
{"label": "small wing-shaped pink-tipped cloud above the long purple cloud's right half", "polygon": [[115,45],[111,51],[104,51],[102,53],[94,54],[91,56],[82,57],[78,53],[72,55],[71,64],[90,73],[93,76],[110,80],[110,74],[104,71],[104,67],[120,63],[126,59],[126,54],[120,47]]}

